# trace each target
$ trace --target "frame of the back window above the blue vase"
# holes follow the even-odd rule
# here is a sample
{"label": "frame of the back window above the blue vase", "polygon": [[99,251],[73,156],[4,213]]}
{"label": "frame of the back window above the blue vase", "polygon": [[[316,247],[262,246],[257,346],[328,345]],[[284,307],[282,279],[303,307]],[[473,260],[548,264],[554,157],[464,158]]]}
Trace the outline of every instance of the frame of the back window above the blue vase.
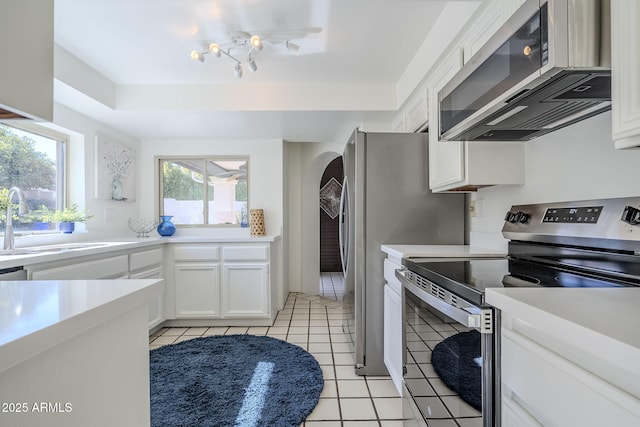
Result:
{"label": "frame of the back window above the blue vase", "polygon": [[[157,209],[158,209],[158,216],[160,215],[165,215],[164,212],[164,171],[162,168],[163,162],[175,162],[175,161],[180,161],[180,160],[199,160],[202,162],[216,162],[216,161],[244,161],[247,164],[247,207],[246,207],[246,216],[247,216],[247,223],[248,223],[248,218],[249,218],[249,206],[250,206],[250,191],[249,191],[249,176],[250,176],[250,171],[249,171],[249,164],[250,164],[250,158],[247,155],[189,155],[189,156],[185,156],[185,155],[159,155],[159,156],[155,156],[155,165],[157,168],[157,182],[158,182],[158,204],[157,204]],[[202,211],[202,215],[203,215],[203,219],[204,221],[208,221],[209,218],[209,203],[207,202],[209,200],[209,186],[208,185],[204,185],[204,190],[203,190],[203,211]],[[242,224],[238,223],[238,224],[209,224],[209,223],[203,223],[203,224],[179,224],[176,223],[175,224],[176,227],[180,227],[180,228],[242,228]],[[248,227],[248,225],[247,225]]]}

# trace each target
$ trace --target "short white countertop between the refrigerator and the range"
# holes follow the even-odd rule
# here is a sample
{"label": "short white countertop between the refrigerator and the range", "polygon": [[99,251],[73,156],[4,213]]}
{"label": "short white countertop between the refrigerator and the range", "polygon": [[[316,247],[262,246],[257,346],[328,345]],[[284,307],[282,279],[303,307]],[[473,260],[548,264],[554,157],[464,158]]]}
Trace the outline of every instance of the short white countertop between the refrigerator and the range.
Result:
{"label": "short white countertop between the refrigerator and the range", "polygon": [[473,258],[506,255],[495,249],[469,245],[382,245],[381,249],[389,256],[397,258]]}

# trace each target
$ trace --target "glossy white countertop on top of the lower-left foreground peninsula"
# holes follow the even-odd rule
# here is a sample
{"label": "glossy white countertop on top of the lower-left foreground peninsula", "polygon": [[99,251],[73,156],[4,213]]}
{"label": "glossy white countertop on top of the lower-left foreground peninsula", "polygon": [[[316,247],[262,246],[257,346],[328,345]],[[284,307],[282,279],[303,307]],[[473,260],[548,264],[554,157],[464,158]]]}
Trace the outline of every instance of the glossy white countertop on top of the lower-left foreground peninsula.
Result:
{"label": "glossy white countertop on top of the lower-left foreground peninsula", "polygon": [[157,297],[162,280],[0,281],[0,372]]}

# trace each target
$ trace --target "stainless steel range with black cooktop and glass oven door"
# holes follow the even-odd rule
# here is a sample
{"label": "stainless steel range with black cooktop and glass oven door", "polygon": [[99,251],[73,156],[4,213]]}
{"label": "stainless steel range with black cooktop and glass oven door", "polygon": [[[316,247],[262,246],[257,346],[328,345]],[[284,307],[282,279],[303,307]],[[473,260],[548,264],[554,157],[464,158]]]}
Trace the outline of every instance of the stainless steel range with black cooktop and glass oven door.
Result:
{"label": "stainless steel range with black cooktop and glass oven door", "polygon": [[[414,425],[480,418],[483,426],[500,425],[500,318],[485,303],[486,288],[640,286],[640,197],[513,206],[502,233],[506,258],[406,258],[406,269],[397,271],[405,301],[405,418]],[[432,364],[439,343],[468,331],[479,333],[473,381],[481,396],[472,399],[462,365],[454,369],[459,378],[444,381]]]}

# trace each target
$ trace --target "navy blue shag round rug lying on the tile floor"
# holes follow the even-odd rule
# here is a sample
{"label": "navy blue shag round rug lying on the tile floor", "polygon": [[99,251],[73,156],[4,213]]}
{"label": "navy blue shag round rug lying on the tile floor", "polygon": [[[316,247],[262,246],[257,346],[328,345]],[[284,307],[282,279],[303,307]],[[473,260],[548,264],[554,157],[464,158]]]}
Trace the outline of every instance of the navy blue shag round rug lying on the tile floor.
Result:
{"label": "navy blue shag round rug lying on the tile floor", "polygon": [[299,426],[324,387],[318,361],[267,336],[195,338],[151,350],[152,426]]}

